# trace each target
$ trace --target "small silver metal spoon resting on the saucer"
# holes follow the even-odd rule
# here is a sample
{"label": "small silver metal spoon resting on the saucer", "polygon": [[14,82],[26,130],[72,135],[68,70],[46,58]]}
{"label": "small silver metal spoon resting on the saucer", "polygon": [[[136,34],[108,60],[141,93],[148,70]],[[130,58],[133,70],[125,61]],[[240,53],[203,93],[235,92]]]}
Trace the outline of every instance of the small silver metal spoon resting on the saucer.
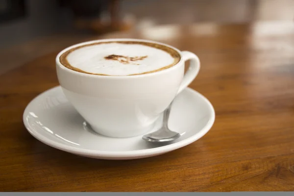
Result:
{"label": "small silver metal spoon resting on the saucer", "polygon": [[172,103],[164,111],[163,126],[155,132],[144,135],[142,137],[143,140],[146,140],[147,142],[170,142],[181,136],[179,133],[171,131],[168,127],[171,106],[172,106]]}

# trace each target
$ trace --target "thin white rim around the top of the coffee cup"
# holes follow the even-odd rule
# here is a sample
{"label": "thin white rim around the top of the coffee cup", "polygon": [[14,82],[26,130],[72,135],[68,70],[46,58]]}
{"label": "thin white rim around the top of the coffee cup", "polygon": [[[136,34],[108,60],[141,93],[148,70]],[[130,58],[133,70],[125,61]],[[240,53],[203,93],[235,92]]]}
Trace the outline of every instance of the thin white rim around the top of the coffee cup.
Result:
{"label": "thin white rim around the top of the coffee cup", "polygon": [[[152,72],[152,73],[144,73],[144,74],[137,74],[137,75],[97,75],[97,74],[90,74],[90,73],[82,73],[82,72],[76,72],[76,71],[73,71],[67,67],[65,67],[64,65],[62,65],[62,63],[60,62],[59,58],[60,56],[70,50],[70,49],[73,49],[75,47],[79,47],[79,46],[83,46],[83,45],[88,45],[88,44],[93,44],[93,43],[100,43],[100,42],[115,42],[115,41],[137,41],[137,42],[147,42],[147,43],[154,43],[154,44],[158,44],[158,45],[162,45],[162,46],[165,46],[165,47],[169,47],[173,50],[175,50],[179,56],[180,56],[180,60],[179,62],[177,62],[175,65],[173,65],[172,67],[168,68],[168,69],[164,69],[164,70],[161,70],[161,71],[158,71],[158,72]],[[164,44],[164,43],[161,43],[161,42],[157,42],[157,41],[152,41],[152,40],[145,40],[145,39],[134,39],[134,38],[114,38],[114,39],[98,39],[98,40],[91,40],[91,41],[86,41],[86,42],[81,42],[81,43],[78,43],[78,44],[74,44],[70,47],[67,47],[63,50],[61,50],[56,58],[55,58],[55,61],[56,61],[56,65],[60,68],[60,69],[63,69],[64,71],[67,71],[69,73],[73,73],[73,74],[76,74],[76,75],[80,75],[80,76],[85,76],[85,77],[94,77],[94,78],[109,78],[109,79],[126,79],[126,78],[140,78],[140,77],[147,77],[147,76],[152,76],[152,75],[157,75],[157,74],[163,74],[163,73],[166,73],[166,72],[170,72],[172,71],[173,69],[176,69],[178,66],[180,66],[183,62],[183,56],[182,56],[182,53],[179,49],[175,48],[175,47],[172,47],[168,44]]]}

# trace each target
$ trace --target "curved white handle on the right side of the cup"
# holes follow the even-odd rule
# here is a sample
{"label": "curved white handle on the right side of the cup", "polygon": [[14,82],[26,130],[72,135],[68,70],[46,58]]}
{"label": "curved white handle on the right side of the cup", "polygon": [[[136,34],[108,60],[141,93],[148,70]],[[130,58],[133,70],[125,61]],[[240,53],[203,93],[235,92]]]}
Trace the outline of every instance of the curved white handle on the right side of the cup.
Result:
{"label": "curved white handle on the right side of the cup", "polygon": [[190,60],[190,65],[183,77],[182,83],[177,94],[182,92],[187,86],[189,86],[189,84],[191,84],[191,82],[196,78],[200,70],[200,60],[198,56],[196,56],[196,54],[189,51],[182,51],[181,53],[185,62]]}

